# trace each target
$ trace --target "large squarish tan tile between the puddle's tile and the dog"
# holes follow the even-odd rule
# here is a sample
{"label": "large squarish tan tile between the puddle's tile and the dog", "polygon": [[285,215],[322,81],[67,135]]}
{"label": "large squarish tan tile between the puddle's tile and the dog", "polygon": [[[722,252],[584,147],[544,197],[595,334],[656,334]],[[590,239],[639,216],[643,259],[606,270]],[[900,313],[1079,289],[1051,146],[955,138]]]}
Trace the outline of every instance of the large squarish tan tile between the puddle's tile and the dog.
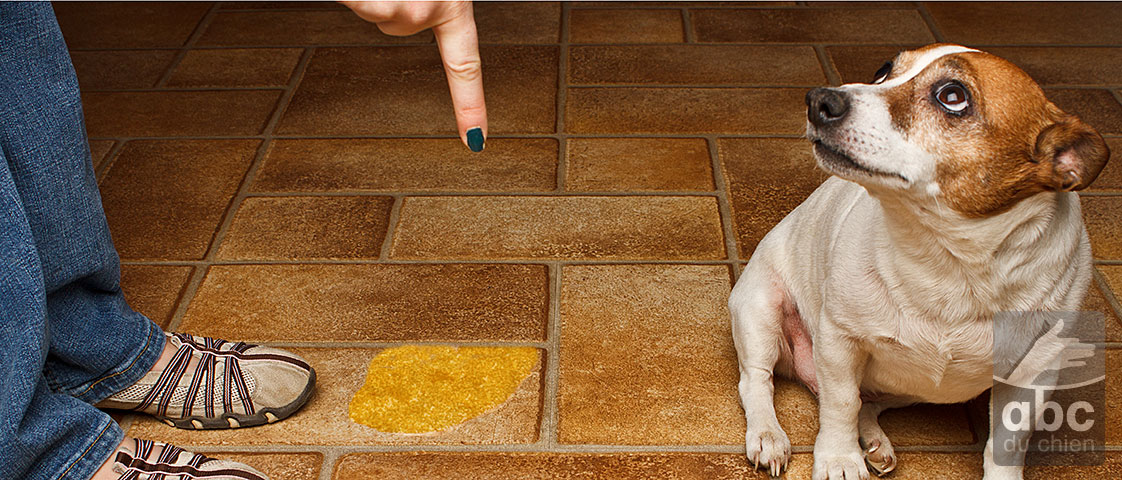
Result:
{"label": "large squarish tan tile between the puddle's tile and the dog", "polygon": [[576,266],[561,279],[558,440],[739,444],[725,266]]}

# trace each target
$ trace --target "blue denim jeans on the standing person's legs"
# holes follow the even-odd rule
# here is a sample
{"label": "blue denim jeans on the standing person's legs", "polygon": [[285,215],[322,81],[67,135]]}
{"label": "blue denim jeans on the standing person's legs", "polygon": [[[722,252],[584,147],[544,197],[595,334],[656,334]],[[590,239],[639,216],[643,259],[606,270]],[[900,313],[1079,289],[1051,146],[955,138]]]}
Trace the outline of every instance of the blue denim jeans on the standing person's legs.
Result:
{"label": "blue denim jeans on the standing person's legs", "polygon": [[0,2],[0,478],[92,477],[122,437],[92,404],[163,348],[121,296],[50,4]]}

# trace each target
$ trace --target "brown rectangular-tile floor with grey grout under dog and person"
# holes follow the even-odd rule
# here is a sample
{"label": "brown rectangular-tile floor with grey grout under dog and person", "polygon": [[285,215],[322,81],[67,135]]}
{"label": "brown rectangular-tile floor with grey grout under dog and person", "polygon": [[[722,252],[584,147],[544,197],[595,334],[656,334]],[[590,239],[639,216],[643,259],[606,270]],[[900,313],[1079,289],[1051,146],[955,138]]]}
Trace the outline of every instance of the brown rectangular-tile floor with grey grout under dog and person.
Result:
{"label": "brown rectangular-tile floor with grey grout under dog and person", "polygon": [[[454,138],[431,34],[330,2],[58,3],[134,305],[169,329],[295,349],[320,375],[293,418],[234,432],[123,416],[134,435],[276,480],[763,478],[725,299],[761,237],[825,175],[811,86],[896,50],[981,46],[1122,151],[1122,8],[1050,3],[480,3],[490,138]],[[1122,347],[1122,158],[1084,194],[1087,307]],[[347,417],[404,343],[519,345],[502,407],[393,435]],[[1122,471],[1122,350],[1105,465]],[[809,477],[815,401],[781,381]],[[980,478],[978,404],[886,413],[898,479]]]}

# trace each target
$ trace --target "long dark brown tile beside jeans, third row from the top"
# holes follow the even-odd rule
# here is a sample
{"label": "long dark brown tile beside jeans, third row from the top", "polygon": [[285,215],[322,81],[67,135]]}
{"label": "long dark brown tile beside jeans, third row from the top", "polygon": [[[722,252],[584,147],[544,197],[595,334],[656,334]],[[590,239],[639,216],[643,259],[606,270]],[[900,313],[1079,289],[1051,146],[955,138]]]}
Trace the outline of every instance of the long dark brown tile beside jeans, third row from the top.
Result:
{"label": "long dark brown tile beside jeans, third row from the top", "polygon": [[82,95],[91,137],[259,135],[279,90],[92,92]]}

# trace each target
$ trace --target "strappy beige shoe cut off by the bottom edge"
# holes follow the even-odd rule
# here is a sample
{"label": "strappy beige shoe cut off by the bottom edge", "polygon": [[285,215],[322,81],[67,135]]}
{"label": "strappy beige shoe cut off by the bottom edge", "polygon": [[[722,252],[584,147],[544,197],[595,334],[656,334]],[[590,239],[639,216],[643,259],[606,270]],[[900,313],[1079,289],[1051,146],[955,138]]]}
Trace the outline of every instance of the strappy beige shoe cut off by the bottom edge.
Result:
{"label": "strappy beige shoe cut off by the bottom edge", "polygon": [[113,472],[121,474],[119,480],[268,480],[243,463],[140,439],[136,440],[136,451],[121,445],[110,461]]}

